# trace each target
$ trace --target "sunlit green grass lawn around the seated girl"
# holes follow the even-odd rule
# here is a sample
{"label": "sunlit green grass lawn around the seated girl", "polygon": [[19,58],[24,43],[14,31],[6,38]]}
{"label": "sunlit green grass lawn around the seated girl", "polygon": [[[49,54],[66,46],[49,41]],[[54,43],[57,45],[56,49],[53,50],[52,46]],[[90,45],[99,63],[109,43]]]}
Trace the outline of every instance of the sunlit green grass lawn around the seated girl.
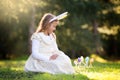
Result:
{"label": "sunlit green grass lawn around the seated girl", "polygon": [[73,75],[24,72],[25,60],[0,61],[0,80],[120,80],[120,62],[96,57],[91,67],[74,66]]}

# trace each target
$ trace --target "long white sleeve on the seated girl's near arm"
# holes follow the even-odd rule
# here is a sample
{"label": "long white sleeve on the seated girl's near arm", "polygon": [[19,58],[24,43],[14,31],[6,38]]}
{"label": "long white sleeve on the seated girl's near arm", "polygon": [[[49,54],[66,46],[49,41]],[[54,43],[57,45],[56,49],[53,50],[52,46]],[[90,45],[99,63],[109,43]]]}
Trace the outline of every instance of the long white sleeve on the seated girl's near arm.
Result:
{"label": "long white sleeve on the seated girl's near arm", "polygon": [[39,53],[40,42],[36,39],[32,40],[32,56],[38,60],[48,61],[49,57]]}

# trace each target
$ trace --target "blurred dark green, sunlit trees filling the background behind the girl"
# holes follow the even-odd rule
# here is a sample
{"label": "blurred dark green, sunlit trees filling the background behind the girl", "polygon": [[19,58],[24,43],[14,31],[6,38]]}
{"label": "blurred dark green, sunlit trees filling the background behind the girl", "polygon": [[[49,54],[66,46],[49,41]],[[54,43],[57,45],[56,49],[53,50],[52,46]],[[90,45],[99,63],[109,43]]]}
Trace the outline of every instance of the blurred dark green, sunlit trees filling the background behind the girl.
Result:
{"label": "blurred dark green, sunlit trees filling the background behind the girl", "polygon": [[55,31],[62,51],[71,58],[120,59],[119,0],[1,0],[0,6],[0,59],[28,57],[43,14],[65,11],[68,17]]}

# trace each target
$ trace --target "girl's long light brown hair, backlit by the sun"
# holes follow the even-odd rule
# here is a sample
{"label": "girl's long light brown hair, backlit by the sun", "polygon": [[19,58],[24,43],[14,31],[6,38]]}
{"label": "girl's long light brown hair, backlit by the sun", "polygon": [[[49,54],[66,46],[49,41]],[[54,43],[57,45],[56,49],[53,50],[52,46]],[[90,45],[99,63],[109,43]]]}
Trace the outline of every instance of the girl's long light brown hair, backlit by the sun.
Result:
{"label": "girl's long light brown hair, backlit by the sun", "polygon": [[52,15],[51,13],[44,14],[41,21],[40,21],[40,23],[39,23],[39,25],[38,25],[36,33],[45,31],[48,28],[48,25],[50,25],[49,21],[53,17],[55,17],[55,15]]}

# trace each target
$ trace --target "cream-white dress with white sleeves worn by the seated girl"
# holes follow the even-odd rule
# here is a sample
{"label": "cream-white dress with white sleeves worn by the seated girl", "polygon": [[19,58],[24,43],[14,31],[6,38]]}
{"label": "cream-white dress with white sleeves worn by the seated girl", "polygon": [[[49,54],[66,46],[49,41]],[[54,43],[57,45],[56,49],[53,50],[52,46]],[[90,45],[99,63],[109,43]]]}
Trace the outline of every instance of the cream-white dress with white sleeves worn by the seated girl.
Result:
{"label": "cream-white dress with white sleeves worn by the seated girl", "polygon": [[[53,33],[49,36],[43,32],[34,33],[31,40],[32,54],[26,61],[25,71],[51,74],[74,73],[70,58],[58,49]],[[58,57],[55,60],[49,60],[53,54],[58,54]]]}

